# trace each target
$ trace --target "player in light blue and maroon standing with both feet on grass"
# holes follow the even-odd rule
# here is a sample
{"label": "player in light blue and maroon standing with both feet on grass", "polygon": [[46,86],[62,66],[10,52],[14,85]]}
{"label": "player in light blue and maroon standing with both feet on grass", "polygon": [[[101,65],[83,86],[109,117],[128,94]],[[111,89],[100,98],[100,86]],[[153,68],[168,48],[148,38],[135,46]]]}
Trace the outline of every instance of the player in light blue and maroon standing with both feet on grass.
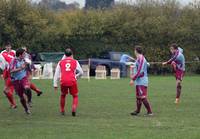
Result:
{"label": "player in light blue and maroon standing with both feet on grass", "polygon": [[134,75],[130,81],[130,85],[133,85],[135,82],[136,86],[136,105],[137,109],[131,113],[131,115],[138,115],[141,110],[142,103],[144,104],[145,108],[147,109],[147,115],[152,116],[151,106],[147,99],[147,87],[148,87],[148,75],[147,75],[147,61],[142,54],[142,47],[136,46],[135,47],[135,55],[137,57],[135,68],[134,68]]}

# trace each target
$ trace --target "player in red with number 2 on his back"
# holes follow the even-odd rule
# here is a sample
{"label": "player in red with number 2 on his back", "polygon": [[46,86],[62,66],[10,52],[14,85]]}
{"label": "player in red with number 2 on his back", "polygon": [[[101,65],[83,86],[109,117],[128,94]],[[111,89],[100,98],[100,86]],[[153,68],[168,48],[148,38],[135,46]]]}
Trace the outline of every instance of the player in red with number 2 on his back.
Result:
{"label": "player in red with number 2 on his back", "polygon": [[58,79],[60,78],[60,113],[65,115],[65,98],[68,93],[73,97],[72,116],[76,116],[78,105],[77,78],[83,74],[83,70],[77,60],[73,59],[71,49],[65,50],[66,58],[59,61],[54,75],[54,89],[57,92]]}

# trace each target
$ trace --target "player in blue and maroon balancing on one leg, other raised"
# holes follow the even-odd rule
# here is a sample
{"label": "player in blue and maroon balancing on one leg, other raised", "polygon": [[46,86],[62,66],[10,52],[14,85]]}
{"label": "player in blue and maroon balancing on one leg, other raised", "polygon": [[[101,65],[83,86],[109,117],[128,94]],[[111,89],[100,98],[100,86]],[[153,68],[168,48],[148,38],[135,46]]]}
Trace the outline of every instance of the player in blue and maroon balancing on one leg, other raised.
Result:
{"label": "player in blue and maroon balancing on one leg, other raised", "polygon": [[174,103],[178,104],[181,95],[181,82],[183,80],[185,72],[185,57],[183,55],[183,50],[173,43],[170,45],[170,52],[172,53],[172,58],[167,62],[163,62],[163,65],[171,64],[175,72],[176,78],[176,100]]}

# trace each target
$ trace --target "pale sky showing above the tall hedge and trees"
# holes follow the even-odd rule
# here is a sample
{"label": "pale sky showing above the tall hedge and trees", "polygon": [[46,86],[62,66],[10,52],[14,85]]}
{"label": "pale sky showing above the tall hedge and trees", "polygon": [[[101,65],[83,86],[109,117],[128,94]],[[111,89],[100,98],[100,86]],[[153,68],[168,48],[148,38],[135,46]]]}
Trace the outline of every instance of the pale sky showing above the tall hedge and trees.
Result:
{"label": "pale sky showing above the tall hedge and trees", "polygon": [[[32,1],[38,2],[40,0],[32,0]],[[60,1],[64,1],[67,4],[72,3],[72,2],[78,2],[81,7],[84,7],[84,5],[85,5],[85,0],[60,0]],[[118,2],[134,2],[135,0],[115,0],[115,1],[118,1]],[[179,0],[179,1],[182,4],[185,5],[185,4],[188,4],[189,2],[191,2],[193,0]]]}

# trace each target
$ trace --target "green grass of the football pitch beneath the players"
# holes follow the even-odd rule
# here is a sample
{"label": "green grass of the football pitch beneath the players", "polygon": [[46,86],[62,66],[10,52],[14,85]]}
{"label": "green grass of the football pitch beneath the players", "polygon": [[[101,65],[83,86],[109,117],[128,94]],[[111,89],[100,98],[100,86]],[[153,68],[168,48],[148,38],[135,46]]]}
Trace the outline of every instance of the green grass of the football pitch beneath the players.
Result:
{"label": "green grass of the football pitch beneath the players", "polygon": [[[0,95],[0,139],[199,139],[200,76],[186,76],[181,103],[176,106],[175,79],[151,76],[149,99],[154,117],[130,116],[135,108],[135,89],[129,79],[79,81],[78,116],[59,114],[59,93],[51,80],[34,80],[44,94],[34,94],[32,114],[27,116],[15,96],[16,110]],[[0,81],[0,88],[3,82]]]}

